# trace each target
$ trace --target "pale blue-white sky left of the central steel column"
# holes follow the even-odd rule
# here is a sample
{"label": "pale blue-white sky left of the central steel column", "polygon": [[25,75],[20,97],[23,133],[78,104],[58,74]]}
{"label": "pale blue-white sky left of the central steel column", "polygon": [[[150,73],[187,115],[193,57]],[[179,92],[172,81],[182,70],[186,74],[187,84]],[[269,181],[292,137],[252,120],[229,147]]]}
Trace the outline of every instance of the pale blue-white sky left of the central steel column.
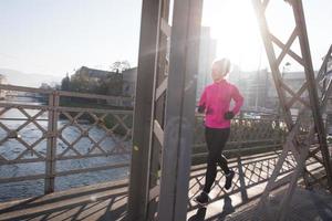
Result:
{"label": "pale blue-white sky left of the central steel column", "polygon": [[141,0],[0,0],[0,67],[64,75],[137,63]]}

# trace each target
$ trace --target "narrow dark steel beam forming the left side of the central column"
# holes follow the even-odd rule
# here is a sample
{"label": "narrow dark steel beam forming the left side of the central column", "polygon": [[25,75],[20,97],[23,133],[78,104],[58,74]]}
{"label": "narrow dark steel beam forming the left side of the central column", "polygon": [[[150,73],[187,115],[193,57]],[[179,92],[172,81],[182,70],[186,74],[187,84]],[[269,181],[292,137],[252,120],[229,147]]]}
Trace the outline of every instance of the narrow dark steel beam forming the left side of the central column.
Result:
{"label": "narrow dark steel beam forming the left side of the central column", "polygon": [[128,220],[146,220],[149,182],[151,120],[157,59],[158,0],[143,0],[138,53]]}

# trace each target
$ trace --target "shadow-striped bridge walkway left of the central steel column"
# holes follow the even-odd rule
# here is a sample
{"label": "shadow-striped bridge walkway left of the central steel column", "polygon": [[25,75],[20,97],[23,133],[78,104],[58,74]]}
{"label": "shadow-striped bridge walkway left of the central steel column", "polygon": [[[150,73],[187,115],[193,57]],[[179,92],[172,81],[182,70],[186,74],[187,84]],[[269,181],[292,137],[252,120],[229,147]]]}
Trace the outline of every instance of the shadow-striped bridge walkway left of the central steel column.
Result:
{"label": "shadow-striped bridge walkway left of the central steel column", "polygon": [[105,182],[0,204],[0,220],[123,220],[127,181]]}

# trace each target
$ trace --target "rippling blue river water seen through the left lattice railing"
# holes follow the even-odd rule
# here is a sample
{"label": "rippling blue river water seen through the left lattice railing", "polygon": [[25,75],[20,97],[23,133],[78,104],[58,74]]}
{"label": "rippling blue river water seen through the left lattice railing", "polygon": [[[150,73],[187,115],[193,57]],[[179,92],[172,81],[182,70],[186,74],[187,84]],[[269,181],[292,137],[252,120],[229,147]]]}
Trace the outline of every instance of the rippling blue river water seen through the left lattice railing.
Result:
{"label": "rippling blue river water seen through the left lattice railing", "polygon": [[[1,103],[8,101],[1,101]],[[15,104],[29,104],[29,105],[41,105],[32,98],[21,98],[19,97],[15,101],[10,101],[10,103]],[[1,112],[0,107],[0,112]],[[24,114],[25,112],[25,114]],[[13,165],[2,165],[0,166],[0,177],[10,178],[10,177],[21,177],[29,175],[44,173],[46,157],[46,146],[48,140],[43,137],[44,133],[48,131],[48,110],[40,113],[40,109],[24,109],[23,112],[18,108],[12,108],[4,112],[0,115],[0,156],[9,160],[12,159],[41,159],[41,162],[29,162],[29,164],[13,164]],[[40,114],[37,117],[35,123],[29,123],[24,125],[28,120],[27,114],[31,117]],[[80,155],[89,154],[101,154],[101,149],[105,152],[116,152],[118,148],[118,143],[121,137],[105,137],[105,131],[97,125],[92,126],[86,120],[80,123],[82,129],[89,129],[89,139],[87,137],[81,137],[81,130],[75,126],[68,126],[68,119],[60,119],[58,122],[59,133],[61,137],[58,138],[56,145],[56,157],[70,157],[74,156],[77,152]],[[18,139],[7,139],[3,140],[8,135],[9,130],[18,130],[18,135],[21,140],[28,146],[32,146],[32,149],[28,149],[22,141]],[[100,141],[105,137],[102,141]],[[76,143],[75,143],[76,141]],[[98,143],[100,141],[100,143]],[[73,144],[74,148],[69,148],[69,144]],[[98,143],[101,149],[95,147],[95,144]],[[122,143],[122,145],[129,149],[129,140]],[[73,151],[77,151],[76,154]],[[73,169],[82,169],[89,167],[98,167],[103,165],[113,165],[121,162],[128,162],[129,155],[112,155],[107,157],[94,157],[94,158],[83,158],[83,159],[69,159],[69,160],[56,160],[56,171],[66,171]],[[97,183],[103,181],[116,180],[126,178],[128,175],[127,168],[118,168],[112,170],[94,171],[80,175],[72,175],[66,177],[59,177],[55,179],[55,189],[64,190],[72,187],[85,186],[91,183]],[[27,198],[37,194],[43,193],[44,182],[43,179],[40,180],[30,180],[24,182],[13,182],[13,183],[1,183],[0,185],[0,201],[6,201],[14,198]]]}

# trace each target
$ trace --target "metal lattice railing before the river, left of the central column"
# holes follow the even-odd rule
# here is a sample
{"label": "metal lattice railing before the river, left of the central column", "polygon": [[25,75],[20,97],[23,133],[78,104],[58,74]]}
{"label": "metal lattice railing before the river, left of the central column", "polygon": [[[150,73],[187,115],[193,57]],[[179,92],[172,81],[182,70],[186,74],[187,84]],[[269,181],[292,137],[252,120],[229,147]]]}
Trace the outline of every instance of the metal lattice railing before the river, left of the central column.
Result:
{"label": "metal lattice railing before the river, left of the central column", "polygon": [[131,98],[12,85],[0,90],[34,94],[41,102],[20,96],[0,103],[0,183],[43,180],[46,193],[54,191],[55,177],[128,167]]}

